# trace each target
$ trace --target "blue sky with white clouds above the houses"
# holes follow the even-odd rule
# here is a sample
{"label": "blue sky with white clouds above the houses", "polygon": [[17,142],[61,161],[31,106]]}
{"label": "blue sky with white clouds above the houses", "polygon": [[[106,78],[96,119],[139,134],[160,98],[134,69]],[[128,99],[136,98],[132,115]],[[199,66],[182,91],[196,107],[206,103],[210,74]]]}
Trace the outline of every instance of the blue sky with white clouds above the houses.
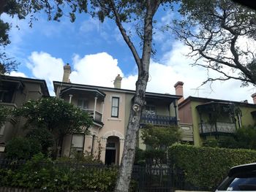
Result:
{"label": "blue sky with white clouds above the houses", "polygon": [[[191,66],[194,61],[186,56],[189,48],[171,31],[159,30],[174,17],[177,17],[175,12],[162,9],[157,12],[157,29],[153,37],[157,53],[151,58],[147,91],[175,94],[173,85],[182,81],[185,98],[200,96],[252,103],[251,95],[256,89],[252,85],[241,88],[241,82],[237,80],[200,86],[208,77],[206,69]],[[30,28],[29,20],[4,14],[1,19],[12,23],[12,43],[6,47],[6,52],[20,62],[17,71],[10,75],[46,80],[50,94],[54,96],[53,80],[62,80],[63,66],[69,63],[71,82],[113,88],[113,80],[120,74],[123,77],[121,88],[135,90],[137,66],[113,20],[100,23],[96,18],[81,14],[77,15],[75,23],[70,23],[67,17],[56,22],[39,14]],[[140,53],[134,23],[124,26],[131,32],[132,41]]]}

